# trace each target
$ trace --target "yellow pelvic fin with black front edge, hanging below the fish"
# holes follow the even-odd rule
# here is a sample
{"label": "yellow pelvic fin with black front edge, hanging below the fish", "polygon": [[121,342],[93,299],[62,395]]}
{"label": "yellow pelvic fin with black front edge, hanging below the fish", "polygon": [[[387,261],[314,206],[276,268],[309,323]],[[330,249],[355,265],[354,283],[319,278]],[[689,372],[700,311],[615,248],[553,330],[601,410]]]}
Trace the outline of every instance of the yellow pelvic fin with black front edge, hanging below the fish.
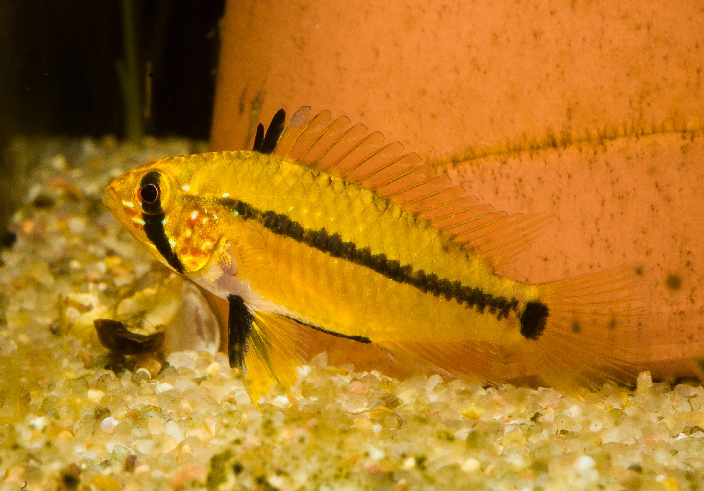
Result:
{"label": "yellow pelvic fin with black front edge, hanging below the fish", "polygon": [[306,325],[265,311],[253,311],[230,295],[227,351],[230,366],[244,374],[244,386],[256,406],[276,383],[296,383],[296,368],[306,356]]}

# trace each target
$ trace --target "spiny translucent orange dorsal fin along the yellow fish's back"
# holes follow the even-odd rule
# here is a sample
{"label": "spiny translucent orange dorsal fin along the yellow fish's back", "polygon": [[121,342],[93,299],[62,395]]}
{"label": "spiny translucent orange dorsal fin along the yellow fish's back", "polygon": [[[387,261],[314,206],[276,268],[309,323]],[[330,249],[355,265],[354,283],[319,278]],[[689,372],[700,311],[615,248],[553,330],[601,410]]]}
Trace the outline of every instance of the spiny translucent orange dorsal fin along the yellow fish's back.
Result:
{"label": "spiny translucent orange dorsal fin along the yellow fish's back", "polygon": [[[275,121],[272,120],[263,146]],[[283,128],[272,154],[345,178],[389,199],[425,220],[450,240],[471,249],[494,269],[505,268],[530,247],[549,218],[543,214],[508,215],[453,186],[434,166],[422,163],[415,153],[404,154],[403,145],[384,145],[384,135],[367,134],[364,125],[348,128],[342,116],[330,123],[331,113],[322,111],[308,119],[303,106]],[[277,119],[279,116],[279,119]],[[273,134],[272,134],[273,135]]]}

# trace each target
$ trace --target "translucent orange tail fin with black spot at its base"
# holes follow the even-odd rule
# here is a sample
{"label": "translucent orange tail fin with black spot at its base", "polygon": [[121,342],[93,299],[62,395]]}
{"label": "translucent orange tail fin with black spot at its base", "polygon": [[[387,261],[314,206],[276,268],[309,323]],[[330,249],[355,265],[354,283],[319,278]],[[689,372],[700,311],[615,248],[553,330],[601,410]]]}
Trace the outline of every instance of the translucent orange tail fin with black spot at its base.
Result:
{"label": "translucent orange tail fin with black spot at its base", "polygon": [[542,283],[520,316],[525,362],[579,399],[605,383],[630,385],[644,359],[648,308],[643,268],[626,266]]}

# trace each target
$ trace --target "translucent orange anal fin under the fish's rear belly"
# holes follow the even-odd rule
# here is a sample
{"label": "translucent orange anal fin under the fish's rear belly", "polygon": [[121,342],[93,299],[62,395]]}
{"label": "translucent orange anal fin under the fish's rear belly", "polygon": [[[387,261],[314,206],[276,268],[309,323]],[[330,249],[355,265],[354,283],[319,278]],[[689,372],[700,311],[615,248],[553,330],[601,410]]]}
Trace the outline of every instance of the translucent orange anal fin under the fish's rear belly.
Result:
{"label": "translucent orange anal fin under the fish's rear belly", "polygon": [[458,342],[377,342],[391,359],[410,363],[425,371],[450,377],[475,378],[480,382],[501,384],[503,356],[496,345],[475,341]]}

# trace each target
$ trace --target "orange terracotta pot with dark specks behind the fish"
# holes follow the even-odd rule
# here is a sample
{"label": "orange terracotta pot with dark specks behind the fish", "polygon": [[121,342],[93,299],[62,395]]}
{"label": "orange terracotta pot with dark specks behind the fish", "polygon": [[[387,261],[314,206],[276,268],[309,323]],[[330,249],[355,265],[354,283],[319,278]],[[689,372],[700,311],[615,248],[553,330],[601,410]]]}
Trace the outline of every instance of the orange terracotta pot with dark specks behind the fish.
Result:
{"label": "orange terracotta pot with dark specks behind the fish", "polygon": [[[231,0],[212,148],[251,148],[258,122],[306,104],[381,130],[498,209],[554,216],[505,274],[643,263],[647,368],[691,374],[704,353],[703,13],[694,1]],[[334,363],[408,373],[314,337]]]}

